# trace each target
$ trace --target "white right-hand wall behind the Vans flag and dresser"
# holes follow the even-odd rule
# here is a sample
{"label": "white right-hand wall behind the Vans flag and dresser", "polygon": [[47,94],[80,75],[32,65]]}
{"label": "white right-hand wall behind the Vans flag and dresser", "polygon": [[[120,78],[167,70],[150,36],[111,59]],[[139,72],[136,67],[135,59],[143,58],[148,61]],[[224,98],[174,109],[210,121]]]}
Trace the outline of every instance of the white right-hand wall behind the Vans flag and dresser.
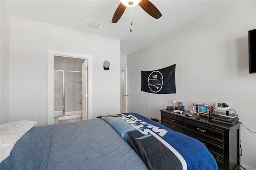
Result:
{"label": "white right-hand wall behind the Vans flag and dresser", "polygon": [[[256,28],[255,1],[228,1],[127,56],[129,112],[160,119],[160,109],[182,101],[228,103],[256,131],[256,74],[248,73],[248,30]],[[176,94],[141,89],[140,71],[176,64]],[[145,109],[145,113],[143,112]],[[241,125],[241,164],[256,169],[256,135]]]}

